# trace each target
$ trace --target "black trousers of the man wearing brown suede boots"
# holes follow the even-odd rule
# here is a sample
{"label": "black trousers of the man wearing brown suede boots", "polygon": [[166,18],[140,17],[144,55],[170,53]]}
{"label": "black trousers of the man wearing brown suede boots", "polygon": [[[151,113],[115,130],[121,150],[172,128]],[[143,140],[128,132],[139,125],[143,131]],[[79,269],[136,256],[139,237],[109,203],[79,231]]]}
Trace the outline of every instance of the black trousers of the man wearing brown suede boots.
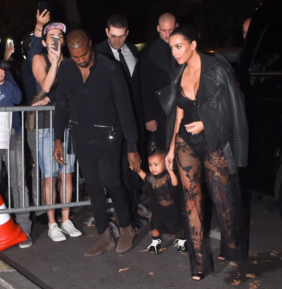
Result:
{"label": "black trousers of the man wearing brown suede boots", "polygon": [[[104,188],[112,199],[117,219],[121,228],[126,228],[131,223],[128,196],[121,184],[119,160],[120,141],[114,140],[110,157],[97,157],[95,144],[81,143],[76,133],[73,133],[73,151],[77,157],[81,173],[85,180],[87,192],[96,221],[98,234],[105,232],[109,227],[107,213],[107,199]],[[110,140],[109,140],[110,141]]]}

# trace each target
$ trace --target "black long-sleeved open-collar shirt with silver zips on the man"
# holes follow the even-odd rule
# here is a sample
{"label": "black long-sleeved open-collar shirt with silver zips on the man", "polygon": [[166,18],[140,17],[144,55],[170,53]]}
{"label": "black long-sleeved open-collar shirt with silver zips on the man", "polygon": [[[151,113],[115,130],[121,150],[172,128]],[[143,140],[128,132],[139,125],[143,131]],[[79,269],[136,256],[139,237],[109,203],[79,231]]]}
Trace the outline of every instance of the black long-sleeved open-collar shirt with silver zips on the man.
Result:
{"label": "black long-sleeved open-collar shirt with silver zips on the man", "polygon": [[[127,140],[128,152],[136,152],[137,130],[122,68],[116,61],[94,50],[94,64],[89,70],[90,74],[83,83],[81,72],[71,57],[62,61],[59,66],[55,140],[63,139],[65,123],[70,115],[70,120],[73,121],[74,141],[79,142],[80,148],[87,150],[91,149],[92,144],[108,142],[113,126],[116,132],[114,142],[121,141],[123,133]],[[75,129],[81,139],[75,137]],[[102,152],[107,149],[107,145],[104,149],[100,146]]]}

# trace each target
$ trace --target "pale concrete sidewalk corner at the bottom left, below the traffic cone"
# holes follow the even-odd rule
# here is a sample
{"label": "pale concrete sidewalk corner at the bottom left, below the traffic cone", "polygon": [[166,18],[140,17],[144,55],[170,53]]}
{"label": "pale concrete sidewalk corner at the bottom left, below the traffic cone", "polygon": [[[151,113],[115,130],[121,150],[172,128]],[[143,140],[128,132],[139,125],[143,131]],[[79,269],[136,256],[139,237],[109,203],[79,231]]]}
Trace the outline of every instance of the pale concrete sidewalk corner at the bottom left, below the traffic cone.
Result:
{"label": "pale concrete sidewalk corner at the bottom left, below the traffic cone", "polygon": [[0,259],[0,289],[42,289]]}

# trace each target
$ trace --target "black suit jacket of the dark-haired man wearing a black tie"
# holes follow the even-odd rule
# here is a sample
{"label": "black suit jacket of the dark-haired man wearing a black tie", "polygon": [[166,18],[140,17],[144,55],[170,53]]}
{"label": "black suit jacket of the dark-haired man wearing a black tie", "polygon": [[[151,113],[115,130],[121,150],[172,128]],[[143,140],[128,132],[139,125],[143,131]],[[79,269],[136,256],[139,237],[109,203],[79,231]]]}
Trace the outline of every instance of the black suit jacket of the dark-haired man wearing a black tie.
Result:
{"label": "black suit jacket of the dark-haired man wearing a black tie", "polygon": [[[137,62],[135,64],[135,68],[133,74],[131,76],[131,80],[128,81],[126,76],[125,79],[128,81],[128,89],[131,97],[131,105],[133,109],[133,113],[135,115],[136,126],[139,132],[139,139],[141,138],[140,132],[144,129],[144,109],[141,98],[141,90],[140,90],[140,81],[139,81],[139,58],[138,58],[138,49],[135,45],[125,42],[132,55],[136,58]],[[100,52],[109,55],[118,62],[120,65],[120,61],[117,61],[114,54],[112,53],[112,49],[110,48],[108,39],[105,41],[95,45],[95,49]],[[122,65],[121,65],[122,66]]]}

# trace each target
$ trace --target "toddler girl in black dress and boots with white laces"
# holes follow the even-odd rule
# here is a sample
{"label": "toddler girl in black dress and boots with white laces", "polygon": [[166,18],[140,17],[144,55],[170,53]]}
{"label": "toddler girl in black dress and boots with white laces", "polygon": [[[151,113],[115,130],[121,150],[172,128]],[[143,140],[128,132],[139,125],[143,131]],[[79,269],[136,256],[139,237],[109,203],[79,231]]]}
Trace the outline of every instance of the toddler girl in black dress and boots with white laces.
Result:
{"label": "toddler girl in black dress and boots with white laces", "polygon": [[[153,200],[153,213],[151,217],[152,243],[148,252],[158,253],[161,247],[161,233],[176,234],[178,245],[177,252],[186,253],[185,233],[182,222],[180,207],[175,201],[177,196],[177,177],[173,170],[166,171],[165,152],[159,149],[151,151],[148,157],[151,173],[140,170],[139,176],[145,182],[151,184],[151,195]],[[179,202],[178,202],[179,203]]]}

